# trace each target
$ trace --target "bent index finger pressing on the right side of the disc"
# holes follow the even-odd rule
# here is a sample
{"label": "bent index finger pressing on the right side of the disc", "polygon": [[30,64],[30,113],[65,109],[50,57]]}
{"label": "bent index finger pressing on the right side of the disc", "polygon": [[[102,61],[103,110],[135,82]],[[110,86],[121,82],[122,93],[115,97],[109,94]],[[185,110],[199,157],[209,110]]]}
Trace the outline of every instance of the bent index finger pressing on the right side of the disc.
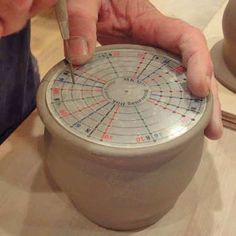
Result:
{"label": "bent index finger pressing on the right side of the disc", "polygon": [[200,97],[208,94],[212,66],[205,39],[198,29],[155,9],[136,19],[132,33],[138,42],[181,54],[190,91]]}

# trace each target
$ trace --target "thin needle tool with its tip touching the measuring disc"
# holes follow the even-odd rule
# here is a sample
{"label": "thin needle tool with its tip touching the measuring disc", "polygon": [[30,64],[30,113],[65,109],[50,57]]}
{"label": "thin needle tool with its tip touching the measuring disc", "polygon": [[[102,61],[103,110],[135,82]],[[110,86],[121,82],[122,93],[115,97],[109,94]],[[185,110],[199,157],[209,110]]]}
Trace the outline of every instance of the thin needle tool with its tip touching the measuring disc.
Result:
{"label": "thin needle tool with its tip touching the measuring disc", "polygon": [[75,84],[75,76],[73,72],[73,65],[71,62],[71,54],[70,54],[69,43],[68,43],[68,40],[70,39],[70,32],[69,32],[69,25],[68,25],[67,1],[58,0],[55,10],[56,10],[58,25],[61,31],[61,36],[65,42],[65,50],[67,54],[66,60],[68,61],[68,64],[69,64],[71,79],[72,79],[73,84]]}

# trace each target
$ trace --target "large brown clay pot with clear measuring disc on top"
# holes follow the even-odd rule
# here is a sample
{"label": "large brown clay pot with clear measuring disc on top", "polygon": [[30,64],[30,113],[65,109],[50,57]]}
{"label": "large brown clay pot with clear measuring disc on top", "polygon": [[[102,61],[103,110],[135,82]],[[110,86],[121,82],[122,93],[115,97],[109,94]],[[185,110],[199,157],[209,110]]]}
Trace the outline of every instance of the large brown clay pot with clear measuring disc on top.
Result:
{"label": "large brown clay pot with clear measuring disc on top", "polygon": [[174,206],[198,168],[212,97],[200,121],[172,141],[143,148],[103,146],[75,136],[52,117],[45,97],[54,69],[37,97],[46,126],[48,173],[79,211],[98,225],[133,230],[155,223]]}

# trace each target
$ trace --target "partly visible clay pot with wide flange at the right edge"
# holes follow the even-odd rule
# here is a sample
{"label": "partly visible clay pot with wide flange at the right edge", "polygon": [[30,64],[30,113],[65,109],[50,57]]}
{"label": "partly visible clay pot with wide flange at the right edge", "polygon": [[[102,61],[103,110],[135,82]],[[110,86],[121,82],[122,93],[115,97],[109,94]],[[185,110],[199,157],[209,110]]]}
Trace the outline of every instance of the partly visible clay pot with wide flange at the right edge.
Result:
{"label": "partly visible clay pot with wide flange at the right edge", "polygon": [[236,0],[230,0],[223,16],[224,40],[211,50],[219,82],[236,92]]}

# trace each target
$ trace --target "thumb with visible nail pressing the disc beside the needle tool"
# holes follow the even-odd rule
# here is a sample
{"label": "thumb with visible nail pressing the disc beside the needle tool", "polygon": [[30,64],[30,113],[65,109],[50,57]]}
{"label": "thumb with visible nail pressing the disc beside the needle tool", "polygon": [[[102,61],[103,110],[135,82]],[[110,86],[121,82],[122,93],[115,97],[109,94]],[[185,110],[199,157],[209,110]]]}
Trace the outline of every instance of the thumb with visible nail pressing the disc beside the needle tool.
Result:
{"label": "thumb with visible nail pressing the disc beside the needle tool", "polygon": [[95,50],[100,2],[101,0],[68,0],[69,51],[73,64],[86,63]]}

